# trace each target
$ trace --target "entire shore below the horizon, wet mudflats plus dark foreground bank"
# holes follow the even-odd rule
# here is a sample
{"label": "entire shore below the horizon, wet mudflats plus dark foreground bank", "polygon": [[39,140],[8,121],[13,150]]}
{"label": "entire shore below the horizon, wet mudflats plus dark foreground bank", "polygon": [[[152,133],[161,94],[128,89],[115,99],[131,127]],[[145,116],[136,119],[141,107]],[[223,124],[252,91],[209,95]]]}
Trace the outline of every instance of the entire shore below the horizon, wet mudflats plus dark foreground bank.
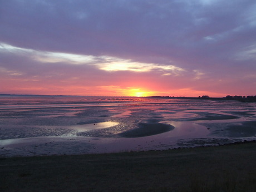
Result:
{"label": "entire shore below the horizon, wet mudflats plus dark foreground bank", "polygon": [[0,99],[1,191],[255,191],[254,102]]}

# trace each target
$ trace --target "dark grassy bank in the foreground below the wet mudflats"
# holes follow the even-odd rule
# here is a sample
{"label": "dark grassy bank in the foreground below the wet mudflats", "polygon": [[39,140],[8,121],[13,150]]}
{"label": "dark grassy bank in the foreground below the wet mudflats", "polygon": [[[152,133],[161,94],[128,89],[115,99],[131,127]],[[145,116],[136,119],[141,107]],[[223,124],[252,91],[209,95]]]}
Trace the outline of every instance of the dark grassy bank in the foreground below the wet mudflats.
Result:
{"label": "dark grassy bank in the foreground below the wet mudflats", "polygon": [[0,159],[0,191],[256,191],[256,142]]}

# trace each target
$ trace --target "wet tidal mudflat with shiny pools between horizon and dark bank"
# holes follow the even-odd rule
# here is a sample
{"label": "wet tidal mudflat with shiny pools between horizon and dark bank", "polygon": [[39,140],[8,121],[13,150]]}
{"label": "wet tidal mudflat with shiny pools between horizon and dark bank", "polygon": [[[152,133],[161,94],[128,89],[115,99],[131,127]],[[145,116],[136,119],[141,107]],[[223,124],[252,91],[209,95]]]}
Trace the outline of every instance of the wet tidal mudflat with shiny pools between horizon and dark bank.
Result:
{"label": "wet tidal mudflat with shiny pools between horizon and dark bank", "polygon": [[144,97],[0,97],[0,156],[168,150],[254,140],[256,103]]}

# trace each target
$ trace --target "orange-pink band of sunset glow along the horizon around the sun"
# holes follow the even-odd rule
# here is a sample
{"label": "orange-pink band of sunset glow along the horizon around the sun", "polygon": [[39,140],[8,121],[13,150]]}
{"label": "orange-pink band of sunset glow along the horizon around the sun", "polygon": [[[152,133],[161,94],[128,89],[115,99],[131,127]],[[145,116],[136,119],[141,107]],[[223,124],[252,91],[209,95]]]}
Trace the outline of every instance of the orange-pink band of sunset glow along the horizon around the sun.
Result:
{"label": "orange-pink band of sunset glow along the horizon around the sun", "polygon": [[[218,93],[210,91],[194,90],[193,88],[169,89],[166,90],[161,86],[156,87],[152,85],[140,85],[136,87],[138,82],[130,83],[131,86],[85,86],[85,85],[68,85],[65,87],[62,84],[48,85],[47,81],[22,81],[21,79],[10,80],[9,78],[0,78],[2,86],[2,93],[10,94],[31,94],[31,95],[80,95],[80,96],[133,96],[133,97],[146,97],[146,96],[174,96],[174,97],[199,97],[208,95],[209,97],[224,97],[232,95],[232,93]],[[132,86],[135,85],[135,86]],[[235,95],[233,93],[233,95]],[[246,94],[244,94],[246,95]],[[247,94],[248,95],[248,94]]]}

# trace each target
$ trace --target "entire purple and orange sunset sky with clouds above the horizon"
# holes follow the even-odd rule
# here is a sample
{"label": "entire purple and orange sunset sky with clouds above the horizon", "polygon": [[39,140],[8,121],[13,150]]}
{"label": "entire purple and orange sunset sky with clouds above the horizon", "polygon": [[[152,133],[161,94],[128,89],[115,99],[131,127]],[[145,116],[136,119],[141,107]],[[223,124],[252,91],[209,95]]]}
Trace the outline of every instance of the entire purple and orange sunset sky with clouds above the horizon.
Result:
{"label": "entire purple and orange sunset sky with clouds above the horizon", "polygon": [[0,93],[256,95],[255,0],[0,0]]}

